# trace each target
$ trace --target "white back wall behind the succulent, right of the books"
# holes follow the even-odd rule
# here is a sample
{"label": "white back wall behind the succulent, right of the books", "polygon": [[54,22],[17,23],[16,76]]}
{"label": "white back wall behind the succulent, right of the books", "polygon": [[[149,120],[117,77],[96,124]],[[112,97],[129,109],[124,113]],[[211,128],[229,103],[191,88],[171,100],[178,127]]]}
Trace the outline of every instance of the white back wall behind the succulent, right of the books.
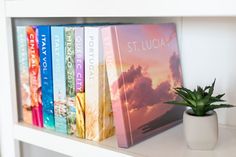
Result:
{"label": "white back wall behind the succulent, right of the books", "polygon": [[[182,65],[187,87],[211,84],[236,104],[236,18],[184,18]],[[236,126],[236,108],[219,109],[221,124]]]}

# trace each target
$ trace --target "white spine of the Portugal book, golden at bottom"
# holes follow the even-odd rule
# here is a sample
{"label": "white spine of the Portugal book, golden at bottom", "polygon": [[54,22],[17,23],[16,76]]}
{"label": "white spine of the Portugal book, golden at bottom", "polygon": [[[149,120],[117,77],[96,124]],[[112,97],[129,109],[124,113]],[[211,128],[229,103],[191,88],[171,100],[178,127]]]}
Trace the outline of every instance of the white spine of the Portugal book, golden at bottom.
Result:
{"label": "white spine of the Portugal book, golden at bottom", "polygon": [[98,29],[85,27],[85,131],[86,139],[99,141],[102,117],[99,107]]}

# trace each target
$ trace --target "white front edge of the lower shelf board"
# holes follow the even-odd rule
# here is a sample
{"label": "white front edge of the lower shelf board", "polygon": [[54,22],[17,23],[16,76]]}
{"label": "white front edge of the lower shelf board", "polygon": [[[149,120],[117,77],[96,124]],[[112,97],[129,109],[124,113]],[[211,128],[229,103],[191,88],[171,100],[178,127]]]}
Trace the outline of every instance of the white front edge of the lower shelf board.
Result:
{"label": "white front edge of the lower shelf board", "polygon": [[83,156],[99,154],[103,157],[132,156],[113,150],[114,147],[110,146],[109,142],[106,144],[83,140],[23,123],[14,126],[14,136],[16,140],[69,156],[79,156],[80,154],[83,154]]}

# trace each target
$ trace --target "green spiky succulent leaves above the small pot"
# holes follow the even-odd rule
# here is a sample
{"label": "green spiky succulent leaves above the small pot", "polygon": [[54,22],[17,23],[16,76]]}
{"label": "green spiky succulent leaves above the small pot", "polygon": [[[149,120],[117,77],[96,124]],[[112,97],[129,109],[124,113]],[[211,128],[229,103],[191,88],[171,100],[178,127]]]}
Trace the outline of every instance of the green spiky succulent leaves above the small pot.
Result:
{"label": "green spiky succulent leaves above the small pot", "polygon": [[211,86],[206,86],[205,88],[197,86],[193,91],[185,87],[174,88],[175,93],[179,95],[182,100],[168,101],[166,103],[191,107],[193,114],[196,116],[204,116],[208,111],[218,108],[234,107],[230,104],[219,104],[225,102],[225,100],[221,99],[225,94],[219,94],[217,96],[212,95],[215,81],[216,80],[214,80]]}

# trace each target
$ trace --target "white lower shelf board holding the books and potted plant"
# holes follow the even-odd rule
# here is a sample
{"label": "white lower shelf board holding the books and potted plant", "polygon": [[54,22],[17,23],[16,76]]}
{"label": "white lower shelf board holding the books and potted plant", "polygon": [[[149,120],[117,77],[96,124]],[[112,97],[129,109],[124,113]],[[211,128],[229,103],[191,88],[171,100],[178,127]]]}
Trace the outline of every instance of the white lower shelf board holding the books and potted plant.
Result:
{"label": "white lower shelf board holding the books and potted plant", "polygon": [[183,126],[178,125],[149,138],[129,149],[118,148],[113,136],[102,142],[92,142],[62,135],[53,131],[15,124],[15,139],[69,156],[137,156],[137,157],[233,157],[236,154],[236,128],[220,126],[219,142],[215,150],[196,151],[186,146]]}

